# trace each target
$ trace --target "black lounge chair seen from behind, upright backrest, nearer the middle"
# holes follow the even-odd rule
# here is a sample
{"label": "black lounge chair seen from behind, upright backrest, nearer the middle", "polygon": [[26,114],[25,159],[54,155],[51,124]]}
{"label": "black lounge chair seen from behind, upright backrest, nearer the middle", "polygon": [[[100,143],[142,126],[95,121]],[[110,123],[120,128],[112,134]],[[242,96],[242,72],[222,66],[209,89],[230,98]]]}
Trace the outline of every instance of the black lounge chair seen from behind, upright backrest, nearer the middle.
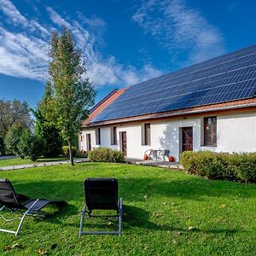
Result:
{"label": "black lounge chair seen from behind, upright backrest, nearer the middle", "polygon": [[[122,234],[123,201],[118,200],[118,181],[115,178],[89,177],[84,180],[84,209],[80,221],[81,235],[119,235]],[[86,210],[88,209],[88,210]],[[93,210],[114,210],[116,215],[92,215]],[[88,218],[119,218],[118,231],[83,231],[85,213]]]}

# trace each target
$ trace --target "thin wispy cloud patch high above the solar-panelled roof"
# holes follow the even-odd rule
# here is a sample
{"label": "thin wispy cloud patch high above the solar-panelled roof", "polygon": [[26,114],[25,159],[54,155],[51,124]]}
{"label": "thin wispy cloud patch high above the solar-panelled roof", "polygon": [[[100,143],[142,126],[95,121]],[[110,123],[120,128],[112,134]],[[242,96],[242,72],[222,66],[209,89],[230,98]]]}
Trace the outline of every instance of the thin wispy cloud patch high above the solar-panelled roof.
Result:
{"label": "thin wispy cloud patch high above the solar-panelled roof", "polygon": [[131,18],[172,56],[189,50],[189,61],[224,54],[224,38],[201,13],[184,0],[142,1]]}

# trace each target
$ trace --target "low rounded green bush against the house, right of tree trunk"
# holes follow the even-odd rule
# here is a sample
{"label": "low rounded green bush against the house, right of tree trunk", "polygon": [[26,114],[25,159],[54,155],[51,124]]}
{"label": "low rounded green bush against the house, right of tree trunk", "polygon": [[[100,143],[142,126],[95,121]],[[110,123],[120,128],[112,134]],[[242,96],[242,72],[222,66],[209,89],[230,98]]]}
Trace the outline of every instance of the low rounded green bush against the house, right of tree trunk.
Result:
{"label": "low rounded green bush against the house, right of tree trunk", "polygon": [[123,163],[125,161],[123,152],[112,150],[110,148],[96,148],[91,150],[88,157],[92,162]]}

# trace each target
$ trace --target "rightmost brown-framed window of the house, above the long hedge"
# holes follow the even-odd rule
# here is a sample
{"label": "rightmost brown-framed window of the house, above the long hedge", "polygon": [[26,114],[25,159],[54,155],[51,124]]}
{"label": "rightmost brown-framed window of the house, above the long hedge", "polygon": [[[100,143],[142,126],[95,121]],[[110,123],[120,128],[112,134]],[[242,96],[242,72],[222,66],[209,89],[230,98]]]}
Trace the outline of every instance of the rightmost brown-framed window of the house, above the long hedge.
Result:
{"label": "rightmost brown-framed window of the house, above the long hedge", "polygon": [[211,116],[204,118],[204,145],[217,145],[217,117]]}

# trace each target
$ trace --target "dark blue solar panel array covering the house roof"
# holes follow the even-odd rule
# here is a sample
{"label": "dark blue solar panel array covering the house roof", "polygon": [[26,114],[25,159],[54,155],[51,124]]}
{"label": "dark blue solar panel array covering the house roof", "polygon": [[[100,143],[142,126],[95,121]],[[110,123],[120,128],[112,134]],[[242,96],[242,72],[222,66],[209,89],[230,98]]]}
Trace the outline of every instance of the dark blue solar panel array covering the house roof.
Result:
{"label": "dark blue solar panel array covering the house roof", "polygon": [[255,96],[256,45],[132,85],[92,122]]}

